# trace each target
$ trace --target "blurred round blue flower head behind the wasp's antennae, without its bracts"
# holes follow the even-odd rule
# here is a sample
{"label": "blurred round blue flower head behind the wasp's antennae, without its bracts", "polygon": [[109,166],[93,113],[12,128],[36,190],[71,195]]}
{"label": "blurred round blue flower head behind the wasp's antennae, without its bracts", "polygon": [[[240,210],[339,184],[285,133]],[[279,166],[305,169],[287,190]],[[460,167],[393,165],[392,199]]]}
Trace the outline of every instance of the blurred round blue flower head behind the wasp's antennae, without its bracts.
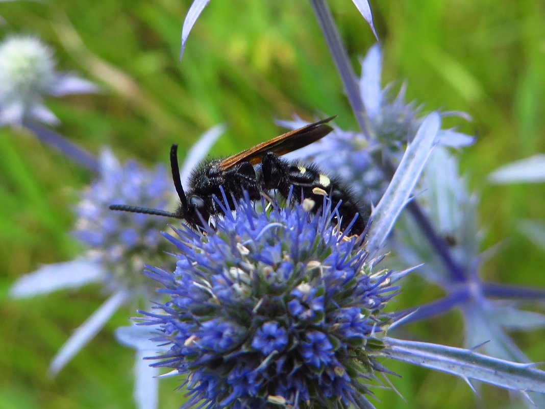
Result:
{"label": "blurred round blue flower head behind the wasp's antennae, without its bracts", "polygon": [[154,172],[134,161],[121,165],[110,151],[100,158],[100,177],[81,194],[74,235],[98,261],[110,290],[120,288],[150,294],[152,281],[135,271],[144,261],[163,265],[167,245],[159,232],[165,219],[145,214],[112,212],[112,203],[140,203],[154,208],[168,207],[173,200],[172,181],[164,166]]}

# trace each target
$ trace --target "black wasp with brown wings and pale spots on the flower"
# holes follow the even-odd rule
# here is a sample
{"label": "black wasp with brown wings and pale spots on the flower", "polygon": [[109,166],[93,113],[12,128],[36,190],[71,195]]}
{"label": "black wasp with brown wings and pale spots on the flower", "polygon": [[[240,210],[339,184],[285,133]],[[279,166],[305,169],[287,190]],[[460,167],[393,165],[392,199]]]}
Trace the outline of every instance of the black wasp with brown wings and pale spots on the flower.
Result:
{"label": "black wasp with brown wings and pale spots on the flower", "polygon": [[[180,205],[175,212],[127,204],[112,204],[110,209],[184,219],[191,227],[197,228],[201,225],[201,217],[202,220],[209,220],[210,215],[223,213],[213,197],[223,202],[220,186],[226,193],[228,208],[233,209],[233,200],[243,197],[244,191],[247,191],[251,200],[259,200],[261,192],[272,189],[277,189],[286,198],[293,185],[292,197],[296,200],[301,197],[312,199],[316,203],[313,212],[317,212],[322,206],[323,195],[331,198],[332,207],[341,202],[338,206],[341,228],[346,229],[354,216],[358,215],[350,233],[360,234],[365,229],[370,209],[356,200],[346,185],[338,178],[324,175],[316,165],[305,165],[279,157],[329,134],[333,129],[327,122],[333,118],[335,117],[295,129],[225,159],[204,160],[192,171],[187,193],[180,181],[178,145],[172,145],[172,179],[180,198]],[[261,170],[254,167],[259,163]]]}

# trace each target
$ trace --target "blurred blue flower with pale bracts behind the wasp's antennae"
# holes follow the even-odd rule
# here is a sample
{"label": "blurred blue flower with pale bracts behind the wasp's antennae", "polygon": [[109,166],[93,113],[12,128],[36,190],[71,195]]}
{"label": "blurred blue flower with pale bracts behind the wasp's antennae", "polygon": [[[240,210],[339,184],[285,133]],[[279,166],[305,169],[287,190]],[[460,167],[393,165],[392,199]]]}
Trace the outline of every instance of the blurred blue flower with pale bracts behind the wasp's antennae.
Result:
{"label": "blurred blue flower with pale bracts behind the wasp's antennae", "polygon": [[[217,126],[205,133],[187,153],[181,174],[187,177],[195,162],[208,153],[211,145],[221,135],[223,128]],[[137,203],[154,208],[174,207],[174,189],[171,175],[164,166],[154,171],[143,169],[134,161],[122,165],[105,149],[100,155],[99,178],[81,192],[80,202],[75,207],[77,220],[74,236],[84,245],[84,253],[76,260],[49,264],[33,273],[22,276],[10,289],[14,298],[25,298],[49,293],[62,288],[77,288],[96,282],[106,293],[111,294],[104,304],[77,328],[60,348],[51,362],[50,372],[56,374],[74,355],[99,332],[114,312],[128,302],[149,302],[156,299],[155,283],[141,274],[144,263],[152,261],[159,266],[171,263],[166,257],[168,242],[160,236],[168,219],[138,213],[112,212],[112,203]],[[173,265],[173,264],[172,264]],[[158,351],[150,345],[148,333],[131,329],[120,329],[120,342],[143,351]],[[135,396],[140,409],[156,407],[156,381],[147,365],[140,364],[142,351],[137,351]],[[142,393],[141,384],[148,384],[148,392]]]}

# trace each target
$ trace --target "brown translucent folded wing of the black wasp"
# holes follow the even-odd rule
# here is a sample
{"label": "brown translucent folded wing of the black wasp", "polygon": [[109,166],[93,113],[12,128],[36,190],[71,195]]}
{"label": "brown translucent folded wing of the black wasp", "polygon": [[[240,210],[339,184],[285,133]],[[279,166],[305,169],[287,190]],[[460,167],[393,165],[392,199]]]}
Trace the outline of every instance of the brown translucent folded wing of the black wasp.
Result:
{"label": "brown translucent folded wing of the black wasp", "polygon": [[265,154],[268,152],[282,156],[288,152],[310,145],[312,142],[322,139],[333,130],[333,128],[326,124],[333,118],[336,118],[336,116],[322,119],[322,121],[314,122],[305,127],[277,136],[270,141],[259,143],[259,145],[253,148],[246,149],[246,151],[223,159],[217,167],[219,170],[225,171],[240,162],[250,162],[252,165],[256,165],[263,160]]}

